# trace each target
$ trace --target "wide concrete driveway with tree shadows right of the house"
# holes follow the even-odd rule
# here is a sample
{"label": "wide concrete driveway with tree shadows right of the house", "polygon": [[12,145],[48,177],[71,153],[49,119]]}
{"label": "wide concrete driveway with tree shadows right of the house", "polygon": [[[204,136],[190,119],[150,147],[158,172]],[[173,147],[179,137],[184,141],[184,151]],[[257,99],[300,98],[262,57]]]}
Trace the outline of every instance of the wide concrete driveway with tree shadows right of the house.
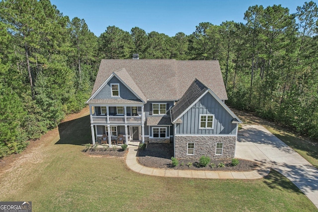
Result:
{"label": "wide concrete driveway with tree shadows right of the house", "polygon": [[318,208],[318,169],[264,127],[243,126],[238,133],[236,158],[272,164]]}

